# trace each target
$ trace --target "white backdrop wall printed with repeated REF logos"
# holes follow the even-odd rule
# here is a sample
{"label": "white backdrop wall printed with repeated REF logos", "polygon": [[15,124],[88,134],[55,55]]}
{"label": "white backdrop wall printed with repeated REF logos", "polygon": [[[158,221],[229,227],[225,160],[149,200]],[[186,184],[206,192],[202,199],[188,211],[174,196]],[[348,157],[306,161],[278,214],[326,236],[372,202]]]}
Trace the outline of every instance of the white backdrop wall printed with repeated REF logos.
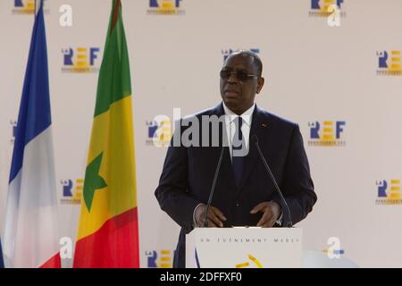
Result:
{"label": "white backdrop wall printed with repeated REF logos", "polygon": [[[154,196],[166,153],[165,147],[149,144],[154,118],[158,114],[172,118],[174,107],[185,115],[218,104],[223,54],[239,48],[257,49],[264,63],[266,84],[257,105],[298,122],[305,139],[318,201],[313,213],[297,225],[305,230],[304,248],[321,251],[334,236],[344,256],[360,266],[402,266],[402,76],[398,66],[402,1],[340,1],[340,27],[330,27],[327,18],[312,9],[314,2],[181,0],[174,10],[177,14],[166,15],[151,7],[149,0],[122,0],[134,96],[142,267],[171,265],[169,261],[162,264],[161,257],[172,257],[179,234],[179,227],[159,209]],[[15,3],[0,2],[1,234],[13,123],[33,24],[33,15],[21,13],[23,8]],[[323,3],[318,1],[321,7]],[[59,24],[62,4],[72,7],[72,27]],[[80,205],[66,195],[69,190],[80,192],[77,180],[84,177],[96,69],[102,60],[110,9],[110,0],[46,0],[61,234],[73,240]],[[66,72],[64,55],[70,48],[75,54],[88,55],[88,60],[90,49],[99,48],[97,58],[92,58],[94,65],[88,65],[95,72]],[[389,68],[379,64],[385,53]],[[332,122],[334,128],[336,122],[344,122],[339,139],[333,140],[339,146],[317,146],[320,139],[311,134],[315,122],[321,125],[320,139],[324,122]],[[331,139],[336,128],[327,133]],[[378,184],[384,181],[388,198],[379,198]],[[391,196],[394,204],[381,204]],[[71,259],[63,265],[71,266]]]}

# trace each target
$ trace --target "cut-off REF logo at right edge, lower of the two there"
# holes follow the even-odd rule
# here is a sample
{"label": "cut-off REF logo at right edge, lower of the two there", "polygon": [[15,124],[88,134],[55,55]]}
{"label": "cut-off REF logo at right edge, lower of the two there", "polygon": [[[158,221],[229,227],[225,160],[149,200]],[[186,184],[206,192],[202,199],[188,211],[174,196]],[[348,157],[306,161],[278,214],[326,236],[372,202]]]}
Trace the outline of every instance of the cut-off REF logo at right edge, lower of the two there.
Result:
{"label": "cut-off REF logo at right edge, lower of the two there", "polygon": [[402,205],[400,180],[391,179],[375,182],[377,189],[376,205]]}

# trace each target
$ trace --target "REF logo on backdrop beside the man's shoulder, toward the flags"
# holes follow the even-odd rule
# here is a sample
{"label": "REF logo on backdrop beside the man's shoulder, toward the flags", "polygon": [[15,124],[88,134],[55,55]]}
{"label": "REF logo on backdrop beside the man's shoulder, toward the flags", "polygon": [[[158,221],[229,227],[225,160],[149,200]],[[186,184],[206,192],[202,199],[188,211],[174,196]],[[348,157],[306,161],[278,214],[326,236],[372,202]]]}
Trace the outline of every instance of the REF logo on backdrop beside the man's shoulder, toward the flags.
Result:
{"label": "REF logo on backdrop beside the man's shoulder, toward the flags", "polygon": [[172,121],[166,115],[157,115],[147,122],[147,145],[167,147],[172,139]]}

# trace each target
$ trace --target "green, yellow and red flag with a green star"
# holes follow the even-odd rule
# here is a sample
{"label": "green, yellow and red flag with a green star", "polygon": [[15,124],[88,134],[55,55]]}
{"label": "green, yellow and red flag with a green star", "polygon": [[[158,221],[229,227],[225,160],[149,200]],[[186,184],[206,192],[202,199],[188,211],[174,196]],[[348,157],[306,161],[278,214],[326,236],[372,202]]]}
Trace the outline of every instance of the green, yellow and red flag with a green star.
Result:
{"label": "green, yellow and red flag with a green star", "polygon": [[121,1],[99,72],[74,267],[139,267],[130,63]]}

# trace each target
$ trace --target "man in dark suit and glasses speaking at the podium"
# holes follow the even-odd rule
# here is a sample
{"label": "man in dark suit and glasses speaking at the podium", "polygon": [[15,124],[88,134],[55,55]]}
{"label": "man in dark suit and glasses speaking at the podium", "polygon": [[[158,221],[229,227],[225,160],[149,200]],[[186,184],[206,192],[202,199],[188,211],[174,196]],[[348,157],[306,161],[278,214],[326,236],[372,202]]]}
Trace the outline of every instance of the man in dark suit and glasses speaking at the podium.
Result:
{"label": "man in dark suit and glasses speaking at the podium", "polygon": [[[155,190],[163,211],[181,226],[174,267],[185,266],[186,233],[204,226],[222,148],[222,164],[206,214],[209,227],[272,227],[289,219],[255,144],[250,142],[254,135],[289,206],[291,222],[301,221],[313,209],[317,197],[298,125],[255,105],[255,94],[264,86],[262,71],[255,53],[230,55],[220,73],[222,104],[183,119],[176,128]],[[223,118],[218,133],[206,133],[205,126],[194,124],[205,117]],[[199,131],[198,135],[189,132],[192,145],[177,144],[175,137],[182,139],[190,128]],[[219,134],[217,145],[214,134]]]}

